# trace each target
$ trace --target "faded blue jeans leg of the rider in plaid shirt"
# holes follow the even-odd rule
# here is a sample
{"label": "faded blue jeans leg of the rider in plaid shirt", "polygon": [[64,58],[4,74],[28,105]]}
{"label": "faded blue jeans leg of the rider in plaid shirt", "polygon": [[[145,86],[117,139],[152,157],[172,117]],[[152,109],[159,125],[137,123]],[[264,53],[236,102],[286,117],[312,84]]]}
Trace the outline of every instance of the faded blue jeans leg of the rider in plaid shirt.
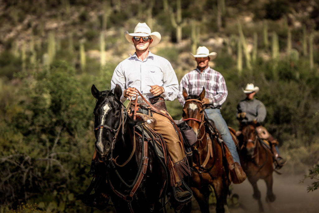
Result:
{"label": "faded blue jeans leg of the rider in plaid shirt", "polygon": [[234,161],[241,164],[232,135],[229,132],[226,121],[220,113],[220,109],[205,109],[205,112],[207,114],[207,117],[214,121],[215,126],[219,131],[222,139],[225,141],[227,147],[229,148],[230,154],[232,155]]}

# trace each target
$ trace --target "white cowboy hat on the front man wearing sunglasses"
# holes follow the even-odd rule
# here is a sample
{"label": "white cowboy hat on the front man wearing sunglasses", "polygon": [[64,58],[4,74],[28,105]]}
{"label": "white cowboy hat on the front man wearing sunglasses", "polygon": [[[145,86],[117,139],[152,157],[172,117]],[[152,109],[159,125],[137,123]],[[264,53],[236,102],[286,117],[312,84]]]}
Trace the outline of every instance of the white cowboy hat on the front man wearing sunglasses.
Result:
{"label": "white cowboy hat on the front man wearing sunglasses", "polygon": [[150,29],[150,27],[147,26],[146,23],[138,23],[134,28],[134,33],[129,33],[127,31],[125,31],[124,36],[125,36],[126,40],[133,45],[134,45],[134,43],[132,41],[133,36],[142,36],[142,37],[151,36],[151,38],[153,39],[153,42],[150,44],[150,46],[149,46],[150,48],[156,46],[160,42],[160,39],[161,39],[161,35],[159,34],[159,32],[152,32],[151,33],[151,29]]}

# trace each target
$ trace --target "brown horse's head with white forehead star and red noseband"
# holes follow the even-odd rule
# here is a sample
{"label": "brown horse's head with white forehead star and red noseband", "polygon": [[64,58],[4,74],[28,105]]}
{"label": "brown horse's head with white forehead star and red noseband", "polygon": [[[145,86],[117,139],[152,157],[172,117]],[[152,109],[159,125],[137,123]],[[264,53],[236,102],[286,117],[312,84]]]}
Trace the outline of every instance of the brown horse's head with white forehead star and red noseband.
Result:
{"label": "brown horse's head with white forehead star and red noseband", "polygon": [[183,88],[183,96],[185,98],[185,104],[183,107],[183,120],[191,126],[198,136],[200,131],[201,123],[204,120],[204,105],[202,103],[203,98],[205,97],[205,88],[201,94],[197,95],[188,95],[185,88]]}

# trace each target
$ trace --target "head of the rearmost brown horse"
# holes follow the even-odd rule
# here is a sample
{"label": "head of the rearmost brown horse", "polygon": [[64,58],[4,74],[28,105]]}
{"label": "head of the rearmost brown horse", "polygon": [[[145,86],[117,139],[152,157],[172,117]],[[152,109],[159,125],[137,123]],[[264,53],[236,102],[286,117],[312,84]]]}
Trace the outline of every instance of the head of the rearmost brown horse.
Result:
{"label": "head of the rearmost brown horse", "polygon": [[240,141],[242,142],[242,151],[246,153],[249,158],[255,157],[255,150],[257,147],[257,134],[254,125],[246,125],[242,127],[242,135]]}

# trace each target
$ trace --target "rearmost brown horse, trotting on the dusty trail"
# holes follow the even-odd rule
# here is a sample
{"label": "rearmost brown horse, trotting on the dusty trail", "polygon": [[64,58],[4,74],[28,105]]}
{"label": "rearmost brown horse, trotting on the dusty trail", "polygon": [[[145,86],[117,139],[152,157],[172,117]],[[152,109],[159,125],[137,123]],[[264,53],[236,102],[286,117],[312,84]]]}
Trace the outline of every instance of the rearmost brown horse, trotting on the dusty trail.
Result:
{"label": "rearmost brown horse, trotting on the dusty trail", "polygon": [[254,189],[253,197],[258,201],[259,212],[264,212],[260,199],[260,191],[257,181],[264,179],[267,185],[267,202],[274,202],[276,196],[272,192],[272,153],[270,149],[258,136],[255,124],[248,124],[242,127],[241,135],[238,136],[240,147],[241,166]]}

